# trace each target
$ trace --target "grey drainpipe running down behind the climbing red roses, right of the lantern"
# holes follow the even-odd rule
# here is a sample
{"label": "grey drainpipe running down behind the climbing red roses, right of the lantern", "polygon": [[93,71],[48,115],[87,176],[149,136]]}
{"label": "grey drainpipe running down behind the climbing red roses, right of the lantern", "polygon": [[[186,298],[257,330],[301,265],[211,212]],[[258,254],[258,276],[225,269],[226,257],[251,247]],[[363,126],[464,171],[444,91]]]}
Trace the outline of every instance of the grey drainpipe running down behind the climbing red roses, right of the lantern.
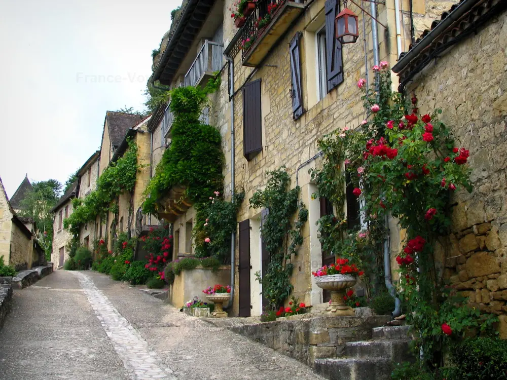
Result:
{"label": "grey drainpipe running down behind the climbing red roses, right of the lantern", "polygon": [[[395,0],[395,3],[397,0]],[[379,60],[379,43],[378,43],[378,30],[377,30],[377,7],[375,3],[371,4],[372,13],[372,36],[373,36],[373,61],[375,65],[380,63]],[[396,33],[398,29],[396,28]],[[400,45],[401,46],[401,45]],[[378,74],[375,75],[375,88],[378,90]],[[390,247],[389,247],[389,216],[385,216],[384,221],[385,238],[384,238],[384,282],[389,294],[394,298],[394,311],[391,313],[392,317],[398,317],[401,314],[401,301],[396,297],[396,288],[392,285],[391,280],[391,259],[390,259]]]}

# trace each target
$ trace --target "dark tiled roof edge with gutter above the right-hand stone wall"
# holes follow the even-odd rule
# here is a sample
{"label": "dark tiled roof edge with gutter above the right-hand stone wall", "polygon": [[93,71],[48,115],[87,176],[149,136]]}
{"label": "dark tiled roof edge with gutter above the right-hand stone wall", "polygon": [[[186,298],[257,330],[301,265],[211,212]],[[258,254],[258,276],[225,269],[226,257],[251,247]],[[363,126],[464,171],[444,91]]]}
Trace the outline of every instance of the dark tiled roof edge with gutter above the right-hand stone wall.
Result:
{"label": "dark tiled roof edge with gutter above the right-hand stone wall", "polygon": [[476,33],[490,19],[507,9],[505,0],[460,0],[431,28],[422,32],[407,52],[401,53],[392,70],[400,77],[399,91],[412,80],[433,58],[442,55],[472,33]]}

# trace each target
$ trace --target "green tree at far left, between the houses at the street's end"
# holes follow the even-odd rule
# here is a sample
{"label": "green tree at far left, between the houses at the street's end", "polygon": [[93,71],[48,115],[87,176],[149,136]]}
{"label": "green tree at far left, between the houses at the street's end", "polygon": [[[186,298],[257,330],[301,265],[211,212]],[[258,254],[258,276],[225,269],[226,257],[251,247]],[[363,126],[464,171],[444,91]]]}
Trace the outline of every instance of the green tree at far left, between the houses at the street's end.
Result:
{"label": "green tree at far left, between the houses at the street's end", "polygon": [[32,190],[21,201],[19,216],[31,217],[37,224],[37,238],[48,260],[53,245],[53,218],[50,211],[60,198],[61,189],[62,185],[56,179],[33,182]]}

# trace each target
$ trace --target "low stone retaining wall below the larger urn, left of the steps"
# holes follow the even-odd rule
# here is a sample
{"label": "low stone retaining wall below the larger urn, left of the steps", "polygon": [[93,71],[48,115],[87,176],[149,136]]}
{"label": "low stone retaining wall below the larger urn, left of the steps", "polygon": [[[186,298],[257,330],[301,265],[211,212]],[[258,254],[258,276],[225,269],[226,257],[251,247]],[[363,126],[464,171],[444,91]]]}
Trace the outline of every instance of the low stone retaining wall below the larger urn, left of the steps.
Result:
{"label": "low stone retaining wall below the larger urn, left of the steps", "polygon": [[349,341],[371,339],[372,328],[390,320],[389,316],[310,317],[236,325],[229,329],[313,367],[315,359],[341,356]]}

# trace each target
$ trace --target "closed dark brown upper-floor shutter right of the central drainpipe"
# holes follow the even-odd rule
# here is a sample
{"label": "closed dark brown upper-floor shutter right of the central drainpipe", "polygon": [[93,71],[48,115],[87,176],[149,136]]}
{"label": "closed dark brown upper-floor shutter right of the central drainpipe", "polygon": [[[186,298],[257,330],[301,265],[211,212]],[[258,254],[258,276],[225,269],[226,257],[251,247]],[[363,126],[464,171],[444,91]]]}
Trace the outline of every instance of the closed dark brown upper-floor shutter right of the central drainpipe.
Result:
{"label": "closed dark brown upper-floor shutter right of the central drainpipe", "polygon": [[261,80],[243,88],[243,155],[250,161],[262,150]]}

